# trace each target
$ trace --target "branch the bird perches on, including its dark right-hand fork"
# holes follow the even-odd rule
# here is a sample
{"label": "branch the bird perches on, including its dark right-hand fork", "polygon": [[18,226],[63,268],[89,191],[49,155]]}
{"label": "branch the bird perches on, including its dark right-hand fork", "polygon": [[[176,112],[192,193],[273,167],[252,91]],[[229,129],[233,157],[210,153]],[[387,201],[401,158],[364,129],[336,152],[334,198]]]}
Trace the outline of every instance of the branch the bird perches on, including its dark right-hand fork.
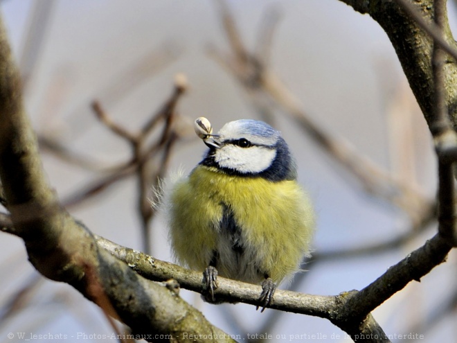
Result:
{"label": "branch the bird perches on, including its dark right-hand fork", "polygon": [[[8,220],[3,218],[3,222]],[[102,250],[106,250],[136,273],[152,281],[176,280],[182,288],[202,292],[201,272],[186,270],[172,263],[159,261],[133,249],[122,247],[100,236],[95,236]],[[370,315],[370,311],[401,290],[410,281],[420,281],[433,267],[442,263],[451,249],[439,234],[415,250],[404,260],[359,292],[337,296],[301,294],[277,290],[270,308],[292,313],[313,315],[330,320],[345,330],[357,342],[389,342],[388,336]],[[244,302],[258,305],[258,285],[218,278],[215,293],[218,301]],[[164,285],[167,285],[165,283]]]}

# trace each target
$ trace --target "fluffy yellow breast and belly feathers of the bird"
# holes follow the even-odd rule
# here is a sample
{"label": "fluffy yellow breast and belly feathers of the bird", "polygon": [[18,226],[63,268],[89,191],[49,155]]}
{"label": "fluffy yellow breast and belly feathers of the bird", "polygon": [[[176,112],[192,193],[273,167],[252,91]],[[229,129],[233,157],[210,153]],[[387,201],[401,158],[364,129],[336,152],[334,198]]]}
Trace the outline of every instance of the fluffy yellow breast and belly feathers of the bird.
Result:
{"label": "fluffy yellow breast and belly feathers of the bird", "polygon": [[[257,283],[266,273],[278,282],[309,252],[314,212],[295,181],[237,177],[197,166],[174,187],[171,204],[174,253],[192,269],[204,270],[217,251],[220,275]],[[237,261],[220,232],[224,206],[241,231],[244,250]]]}

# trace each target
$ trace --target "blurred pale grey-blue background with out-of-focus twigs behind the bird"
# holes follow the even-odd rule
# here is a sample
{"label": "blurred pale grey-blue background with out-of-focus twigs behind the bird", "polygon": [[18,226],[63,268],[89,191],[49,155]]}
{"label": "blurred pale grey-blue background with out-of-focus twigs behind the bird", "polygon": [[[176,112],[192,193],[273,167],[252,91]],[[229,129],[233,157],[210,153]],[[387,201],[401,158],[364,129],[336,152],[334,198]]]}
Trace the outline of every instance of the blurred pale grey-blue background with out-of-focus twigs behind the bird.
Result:
{"label": "blurred pale grey-blue background with out-of-focus twigs behind the bird", "polygon": [[[1,1],[49,182],[94,233],[171,261],[163,220],[140,209],[157,175],[188,173],[200,161],[206,147],[192,122],[206,116],[217,131],[239,118],[269,121],[289,143],[318,215],[314,257],[289,286],[328,295],[364,288],[437,227],[431,136],[388,37],[337,0],[224,4]],[[455,3],[448,6],[454,28]],[[187,80],[178,96],[177,74]],[[161,116],[170,99],[171,126]],[[145,130],[151,118],[157,124]],[[110,132],[109,120],[130,136],[147,133],[143,175],[128,171],[132,141]],[[161,137],[172,143],[157,143]],[[0,342],[19,341],[18,333],[34,342],[48,340],[30,334],[100,342],[113,333],[97,306],[35,272],[19,238],[1,234],[0,249]],[[377,308],[375,319],[388,335],[457,342],[456,268],[451,252]],[[325,319],[181,296],[245,342],[257,333],[276,342],[296,335],[350,342]]]}

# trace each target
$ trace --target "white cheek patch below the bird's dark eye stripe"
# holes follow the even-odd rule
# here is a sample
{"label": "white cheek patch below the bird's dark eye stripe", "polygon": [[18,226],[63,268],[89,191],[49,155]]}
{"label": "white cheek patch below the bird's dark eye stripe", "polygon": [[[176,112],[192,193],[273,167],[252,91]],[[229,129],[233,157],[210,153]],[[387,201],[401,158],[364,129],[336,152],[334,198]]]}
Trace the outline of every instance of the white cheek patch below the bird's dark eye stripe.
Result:
{"label": "white cheek patch below the bird's dark eye stripe", "polygon": [[271,165],[275,157],[275,149],[263,146],[240,148],[227,144],[217,149],[214,159],[222,168],[231,168],[240,173],[260,173]]}

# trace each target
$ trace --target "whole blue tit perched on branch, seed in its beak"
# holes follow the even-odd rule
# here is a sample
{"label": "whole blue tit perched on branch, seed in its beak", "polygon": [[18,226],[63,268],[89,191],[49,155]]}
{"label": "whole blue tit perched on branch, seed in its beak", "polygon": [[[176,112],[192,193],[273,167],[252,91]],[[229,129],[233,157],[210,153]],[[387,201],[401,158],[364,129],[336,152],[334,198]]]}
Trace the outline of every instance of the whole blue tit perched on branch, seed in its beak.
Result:
{"label": "whole blue tit perched on branch, seed in its beak", "polygon": [[214,299],[217,275],[262,284],[260,305],[310,256],[314,211],[296,181],[296,165],[280,132],[267,123],[231,121],[212,134],[198,118],[208,150],[170,193],[170,240],[177,261],[204,271]]}

